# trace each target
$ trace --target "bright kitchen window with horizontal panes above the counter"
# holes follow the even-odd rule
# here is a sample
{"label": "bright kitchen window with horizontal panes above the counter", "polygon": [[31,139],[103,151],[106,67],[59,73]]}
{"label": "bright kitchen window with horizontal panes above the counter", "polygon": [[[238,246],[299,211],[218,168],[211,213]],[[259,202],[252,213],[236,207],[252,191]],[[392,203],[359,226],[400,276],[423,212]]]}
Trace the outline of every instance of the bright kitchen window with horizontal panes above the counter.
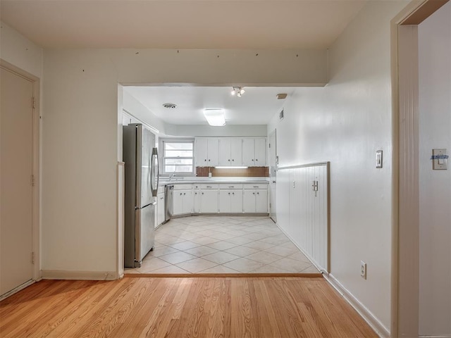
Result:
{"label": "bright kitchen window with horizontal panes above the counter", "polygon": [[161,175],[194,175],[194,139],[161,139]]}

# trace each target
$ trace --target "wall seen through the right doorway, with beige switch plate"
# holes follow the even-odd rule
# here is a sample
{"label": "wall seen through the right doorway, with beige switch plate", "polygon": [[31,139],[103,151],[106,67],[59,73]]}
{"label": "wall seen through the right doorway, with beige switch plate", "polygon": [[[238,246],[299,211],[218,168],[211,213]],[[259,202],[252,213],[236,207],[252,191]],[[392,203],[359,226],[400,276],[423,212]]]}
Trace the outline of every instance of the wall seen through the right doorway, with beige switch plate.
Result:
{"label": "wall seen through the right doorway, with beige switch plate", "polygon": [[451,155],[451,4],[419,25],[419,334],[451,337],[451,161],[432,170],[432,149]]}

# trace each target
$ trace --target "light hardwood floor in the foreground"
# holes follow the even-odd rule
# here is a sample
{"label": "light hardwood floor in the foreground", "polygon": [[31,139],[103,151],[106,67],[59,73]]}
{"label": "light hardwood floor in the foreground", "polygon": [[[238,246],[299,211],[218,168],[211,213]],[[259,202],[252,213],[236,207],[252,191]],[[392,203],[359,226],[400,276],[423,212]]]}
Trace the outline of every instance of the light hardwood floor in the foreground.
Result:
{"label": "light hardwood floor in the foreground", "polygon": [[0,337],[377,337],[323,278],[41,281],[0,302]]}

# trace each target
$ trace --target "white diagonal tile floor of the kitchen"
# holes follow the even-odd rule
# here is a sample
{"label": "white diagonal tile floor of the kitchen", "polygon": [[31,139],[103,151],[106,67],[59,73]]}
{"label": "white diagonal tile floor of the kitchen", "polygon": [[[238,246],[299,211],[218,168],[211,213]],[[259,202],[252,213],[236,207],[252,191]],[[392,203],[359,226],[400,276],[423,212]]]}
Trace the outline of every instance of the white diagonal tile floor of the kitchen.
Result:
{"label": "white diagonal tile floor of the kitchen", "polygon": [[155,249],[125,273],[319,273],[268,217],[189,216],[155,232]]}

